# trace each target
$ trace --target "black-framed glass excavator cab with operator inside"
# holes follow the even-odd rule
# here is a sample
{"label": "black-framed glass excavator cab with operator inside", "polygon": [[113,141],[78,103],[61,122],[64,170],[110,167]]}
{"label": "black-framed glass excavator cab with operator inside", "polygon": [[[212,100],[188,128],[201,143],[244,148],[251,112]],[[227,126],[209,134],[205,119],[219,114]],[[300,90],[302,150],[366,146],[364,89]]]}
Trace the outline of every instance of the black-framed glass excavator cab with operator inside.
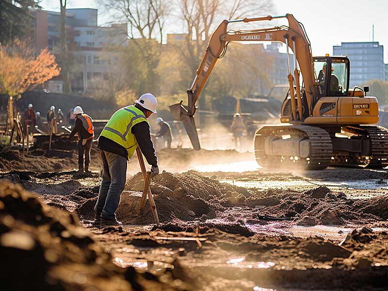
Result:
{"label": "black-framed glass excavator cab with operator inside", "polygon": [[349,59],[347,57],[314,57],[314,71],[319,84],[318,98],[344,97],[349,91]]}

